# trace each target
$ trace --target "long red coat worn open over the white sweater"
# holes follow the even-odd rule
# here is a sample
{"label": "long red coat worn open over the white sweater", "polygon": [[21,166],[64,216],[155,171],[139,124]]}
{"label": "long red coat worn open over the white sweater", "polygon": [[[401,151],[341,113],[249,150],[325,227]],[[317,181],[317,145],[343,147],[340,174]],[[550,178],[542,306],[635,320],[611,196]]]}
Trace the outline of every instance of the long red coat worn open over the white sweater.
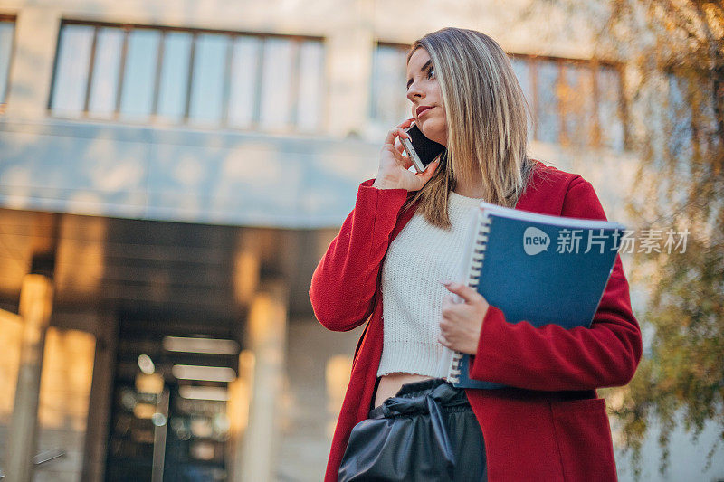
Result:
{"label": "long red coat worn open over the white sweater", "polygon": [[[593,186],[583,177],[536,162],[516,209],[604,220]],[[404,189],[359,186],[357,203],[311,279],[319,322],[348,331],[367,319],[339,413],[326,482],[337,480],[349,432],[367,418],[382,354],[380,272],[389,243],[414,209],[401,213]],[[370,317],[371,315],[371,317]],[[642,352],[620,256],[590,328],[507,323],[500,309],[486,313],[473,378],[527,390],[467,390],[481,424],[491,482],[615,480],[614,450],[605,402],[595,389],[628,383]],[[579,392],[566,400],[563,391]]]}

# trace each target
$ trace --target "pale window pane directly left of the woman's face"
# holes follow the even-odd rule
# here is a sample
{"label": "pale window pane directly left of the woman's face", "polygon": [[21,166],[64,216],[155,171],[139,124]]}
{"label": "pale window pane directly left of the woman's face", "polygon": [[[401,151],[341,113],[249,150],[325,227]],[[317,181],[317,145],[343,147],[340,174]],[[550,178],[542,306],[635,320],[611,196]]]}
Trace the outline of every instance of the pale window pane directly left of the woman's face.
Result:
{"label": "pale window pane directly left of the woman's face", "polygon": [[412,116],[405,97],[406,50],[379,45],[372,72],[372,118],[392,127]]}

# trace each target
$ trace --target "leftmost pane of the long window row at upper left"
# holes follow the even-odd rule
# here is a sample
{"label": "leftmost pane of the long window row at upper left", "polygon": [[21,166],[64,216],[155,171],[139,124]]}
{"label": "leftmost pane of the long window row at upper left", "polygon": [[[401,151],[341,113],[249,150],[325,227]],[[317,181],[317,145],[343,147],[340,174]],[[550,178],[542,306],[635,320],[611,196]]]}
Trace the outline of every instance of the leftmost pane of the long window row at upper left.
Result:
{"label": "leftmost pane of the long window row at upper left", "polygon": [[58,46],[55,80],[52,85],[52,113],[78,117],[85,104],[93,27],[64,25]]}

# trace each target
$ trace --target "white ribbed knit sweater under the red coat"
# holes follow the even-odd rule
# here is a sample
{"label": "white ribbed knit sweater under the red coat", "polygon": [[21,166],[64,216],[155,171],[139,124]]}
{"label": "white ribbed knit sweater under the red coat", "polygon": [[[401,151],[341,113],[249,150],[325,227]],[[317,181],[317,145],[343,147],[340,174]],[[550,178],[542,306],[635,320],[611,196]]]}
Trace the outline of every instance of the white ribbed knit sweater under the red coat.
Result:
{"label": "white ribbed knit sweater under the red coat", "polygon": [[451,192],[450,230],[414,213],[387,249],[382,266],[384,344],[377,376],[395,372],[444,376],[439,373],[443,345],[437,336],[443,298],[450,292],[440,281],[460,277],[472,212],[481,201]]}

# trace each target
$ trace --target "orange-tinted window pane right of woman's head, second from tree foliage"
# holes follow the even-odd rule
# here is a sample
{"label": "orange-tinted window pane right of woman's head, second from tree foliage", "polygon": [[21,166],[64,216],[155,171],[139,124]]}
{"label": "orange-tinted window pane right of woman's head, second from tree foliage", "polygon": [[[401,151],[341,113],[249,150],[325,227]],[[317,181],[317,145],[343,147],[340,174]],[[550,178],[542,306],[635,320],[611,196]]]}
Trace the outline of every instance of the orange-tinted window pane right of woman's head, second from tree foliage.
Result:
{"label": "orange-tinted window pane right of woman's head, second from tree foliage", "polygon": [[564,64],[558,86],[564,132],[560,142],[573,146],[595,146],[593,71],[587,64]]}

